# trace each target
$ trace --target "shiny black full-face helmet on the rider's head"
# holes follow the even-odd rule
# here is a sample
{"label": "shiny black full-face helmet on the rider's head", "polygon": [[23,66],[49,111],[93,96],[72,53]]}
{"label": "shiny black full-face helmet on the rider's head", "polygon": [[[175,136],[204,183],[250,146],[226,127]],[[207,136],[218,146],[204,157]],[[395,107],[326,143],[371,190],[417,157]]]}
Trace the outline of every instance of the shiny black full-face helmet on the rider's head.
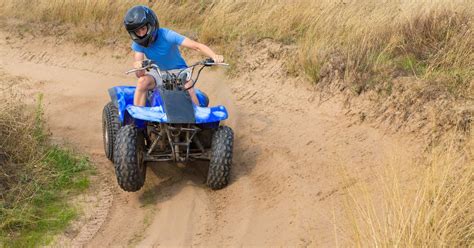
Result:
{"label": "shiny black full-face helmet on the rider's head", "polygon": [[[148,47],[153,42],[155,31],[160,28],[155,12],[143,5],[137,5],[129,9],[125,14],[123,24],[132,40],[144,47]],[[143,26],[147,26],[146,35],[139,37],[135,34],[135,30]]]}

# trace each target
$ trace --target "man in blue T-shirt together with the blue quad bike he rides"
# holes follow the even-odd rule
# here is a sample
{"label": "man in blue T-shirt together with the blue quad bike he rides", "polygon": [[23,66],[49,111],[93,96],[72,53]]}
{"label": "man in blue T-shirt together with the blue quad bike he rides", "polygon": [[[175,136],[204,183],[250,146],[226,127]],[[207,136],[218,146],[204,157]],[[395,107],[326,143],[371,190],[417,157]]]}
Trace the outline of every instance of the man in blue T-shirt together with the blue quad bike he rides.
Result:
{"label": "man in blue T-shirt together with the blue quad bike he rides", "polygon": [[[135,52],[135,69],[127,73],[135,72],[139,79],[136,87],[109,89],[112,101],[105,105],[102,116],[105,154],[114,162],[119,186],[138,191],[145,182],[147,162],[208,160],[207,185],[225,187],[232,164],[233,131],[220,122],[228,113],[224,106],[208,107],[208,97],[194,89],[203,68],[226,65],[223,57],[160,28],[148,7],[131,8],[124,24]],[[210,59],[187,66],[178,46]]]}

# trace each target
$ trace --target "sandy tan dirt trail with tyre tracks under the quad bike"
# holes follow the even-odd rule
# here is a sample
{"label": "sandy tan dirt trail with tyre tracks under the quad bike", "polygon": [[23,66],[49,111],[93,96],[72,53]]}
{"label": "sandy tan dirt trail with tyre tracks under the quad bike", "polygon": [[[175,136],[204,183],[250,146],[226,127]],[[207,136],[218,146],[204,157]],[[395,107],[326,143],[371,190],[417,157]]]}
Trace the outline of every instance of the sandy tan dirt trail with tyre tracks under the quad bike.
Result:
{"label": "sandy tan dirt trail with tyre tracks under the quad bike", "polygon": [[333,246],[343,188],[350,186],[341,168],[370,179],[394,150],[406,147],[355,125],[337,98],[316,104],[305,83],[286,82],[281,65],[266,61],[234,80],[208,71],[199,85],[211,105],[230,110],[227,124],[236,135],[227,188],[209,190],[203,164],[162,164],[149,167],[141,191],[126,193],[105,159],[101,136],[107,89],[135,80],[123,74],[130,64],[120,57],[124,52],[47,38],[20,43],[6,33],[0,38],[0,70],[29,78],[28,90],[43,92],[54,137],[88,153],[103,178],[99,201],[111,204],[99,204],[73,245]]}

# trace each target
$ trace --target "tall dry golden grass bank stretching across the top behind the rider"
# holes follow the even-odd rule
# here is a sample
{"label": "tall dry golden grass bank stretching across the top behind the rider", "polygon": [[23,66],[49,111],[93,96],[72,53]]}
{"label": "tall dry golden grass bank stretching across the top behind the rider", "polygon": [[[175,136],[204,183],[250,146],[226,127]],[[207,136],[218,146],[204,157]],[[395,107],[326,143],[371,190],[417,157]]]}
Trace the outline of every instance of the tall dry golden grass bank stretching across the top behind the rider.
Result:
{"label": "tall dry golden grass bank stretching across the top behind the rider", "polygon": [[[245,44],[265,38],[295,45],[295,53],[285,58],[290,71],[315,83],[324,63],[338,56],[345,75],[362,89],[394,75],[415,76],[472,97],[474,4],[469,0],[4,0],[0,13],[20,20],[25,30],[41,23],[47,27],[42,32],[69,34],[76,41],[128,44],[122,18],[135,4],[151,6],[164,26],[220,45],[233,60],[245,53]],[[34,7],[17,8],[26,5]]]}

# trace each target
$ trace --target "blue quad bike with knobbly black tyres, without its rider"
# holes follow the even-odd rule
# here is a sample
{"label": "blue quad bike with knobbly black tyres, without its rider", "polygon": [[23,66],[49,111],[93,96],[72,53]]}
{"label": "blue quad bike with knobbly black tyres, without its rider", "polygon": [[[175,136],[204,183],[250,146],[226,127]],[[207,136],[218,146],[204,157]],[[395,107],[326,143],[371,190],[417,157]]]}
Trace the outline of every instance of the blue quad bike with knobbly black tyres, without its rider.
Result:
{"label": "blue quad bike with knobbly black tyres, without its rider", "polygon": [[[187,68],[193,75],[187,78],[183,69],[177,74],[161,72],[153,61],[143,61],[143,67],[130,70],[157,70],[163,86],[150,91],[145,107],[133,105],[135,87],[117,86],[109,89],[111,102],[102,114],[105,154],[114,163],[119,186],[129,192],[143,187],[148,162],[172,161],[209,162],[207,185],[214,190],[229,183],[232,166],[234,133],[221,125],[228,118],[224,106],[208,107],[209,99],[195,89],[199,106],[192,103],[187,90],[194,87],[201,71],[208,66],[227,65],[211,59]],[[185,87],[187,80],[192,86]]]}

